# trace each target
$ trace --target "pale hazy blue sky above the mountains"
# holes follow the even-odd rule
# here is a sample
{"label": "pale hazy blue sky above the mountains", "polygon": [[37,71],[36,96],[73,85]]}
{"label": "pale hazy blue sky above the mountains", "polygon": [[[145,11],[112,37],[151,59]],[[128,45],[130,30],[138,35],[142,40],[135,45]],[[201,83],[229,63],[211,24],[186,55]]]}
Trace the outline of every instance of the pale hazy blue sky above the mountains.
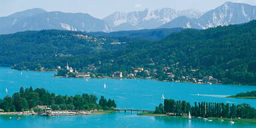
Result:
{"label": "pale hazy blue sky above the mountains", "polygon": [[42,8],[46,11],[89,13],[103,18],[115,11],[140,11],[170,7],[177,10],[198,9],[209,11],[226,1],[256,5],[256,0],[0,0],[0,17],[17,11]]}

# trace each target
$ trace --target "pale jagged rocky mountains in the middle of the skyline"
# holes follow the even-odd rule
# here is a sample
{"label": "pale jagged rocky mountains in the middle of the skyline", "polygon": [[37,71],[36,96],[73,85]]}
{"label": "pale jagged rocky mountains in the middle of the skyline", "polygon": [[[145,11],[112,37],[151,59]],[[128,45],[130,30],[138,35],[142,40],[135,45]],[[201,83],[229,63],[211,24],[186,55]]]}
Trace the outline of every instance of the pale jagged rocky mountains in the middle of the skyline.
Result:
{"label": "pale jagged rocky mountains in the middle of the skyline", "polygon": [[154,29],[173,19],[181,16],[197,18],[202,15],[201,11],[189,9],[177,11],[175,9],[163,8],[155,11],[145,9],[144,11],[133,11],[130,13],[115,12],[103,21],[109,23],[112,31]]}

